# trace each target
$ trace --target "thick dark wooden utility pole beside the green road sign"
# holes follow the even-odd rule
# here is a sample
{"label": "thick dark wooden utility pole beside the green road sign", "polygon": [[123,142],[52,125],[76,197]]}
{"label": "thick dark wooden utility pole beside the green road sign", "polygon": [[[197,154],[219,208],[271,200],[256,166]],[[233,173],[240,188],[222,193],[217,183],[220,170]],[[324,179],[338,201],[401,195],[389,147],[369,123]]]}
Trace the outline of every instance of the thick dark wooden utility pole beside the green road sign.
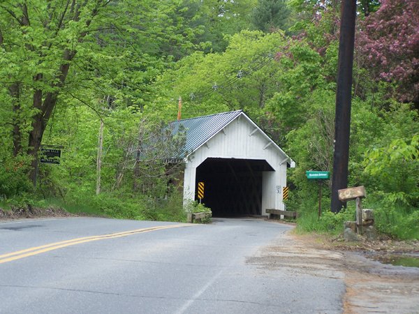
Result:
{"label": "thick dark wooden utility pole beside the green road sign", "polygon": [[348,187],[349,134],[351,128],[351,96],[353,47],[355,44],[356,0],[341,1],[339,59],[335,113],[335,153],[333,155],[332,206],[338,213],[344,203],[337,190]]}

